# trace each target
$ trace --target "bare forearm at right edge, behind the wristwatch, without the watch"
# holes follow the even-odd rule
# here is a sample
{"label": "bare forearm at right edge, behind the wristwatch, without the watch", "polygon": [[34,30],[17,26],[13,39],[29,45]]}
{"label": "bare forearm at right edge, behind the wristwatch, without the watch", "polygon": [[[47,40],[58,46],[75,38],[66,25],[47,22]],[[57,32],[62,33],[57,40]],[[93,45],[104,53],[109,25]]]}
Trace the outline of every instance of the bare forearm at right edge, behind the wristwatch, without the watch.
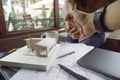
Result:
{"label": "bare forearm at right edge, behind the wristwatch, without the watch", "polygon": [[107,6],[104,17],[104,24],[109,30],[120,29],[120,0]]}

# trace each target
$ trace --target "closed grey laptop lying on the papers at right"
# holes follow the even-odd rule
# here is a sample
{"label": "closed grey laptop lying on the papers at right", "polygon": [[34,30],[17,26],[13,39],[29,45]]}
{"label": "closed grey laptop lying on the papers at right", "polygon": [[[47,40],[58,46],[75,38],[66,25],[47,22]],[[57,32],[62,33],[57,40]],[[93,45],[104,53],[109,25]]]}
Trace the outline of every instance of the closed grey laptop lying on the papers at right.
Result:
{"label": "closed grey laptop lying on the papers at right", "polygon": [[77,61],[77,64],[101,73],[113,80],[120,80],[120,53],[94,48]]}

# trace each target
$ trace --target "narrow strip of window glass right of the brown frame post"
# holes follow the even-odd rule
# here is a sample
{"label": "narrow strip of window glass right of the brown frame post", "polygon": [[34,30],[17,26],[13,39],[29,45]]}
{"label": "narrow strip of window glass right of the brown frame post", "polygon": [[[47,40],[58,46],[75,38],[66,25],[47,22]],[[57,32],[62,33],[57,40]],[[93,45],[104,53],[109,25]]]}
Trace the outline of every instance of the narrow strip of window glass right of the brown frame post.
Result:
{"label": "narrow strip of window glass right of the brown frame post", "polygon": [[63,5],[64,5],[64,1],[65,0],[59,0],[59,18],[60,18],[60,27],[65,27],[65,22],[63,20],[63,14],[62,14],[62,8],[63,8]]}

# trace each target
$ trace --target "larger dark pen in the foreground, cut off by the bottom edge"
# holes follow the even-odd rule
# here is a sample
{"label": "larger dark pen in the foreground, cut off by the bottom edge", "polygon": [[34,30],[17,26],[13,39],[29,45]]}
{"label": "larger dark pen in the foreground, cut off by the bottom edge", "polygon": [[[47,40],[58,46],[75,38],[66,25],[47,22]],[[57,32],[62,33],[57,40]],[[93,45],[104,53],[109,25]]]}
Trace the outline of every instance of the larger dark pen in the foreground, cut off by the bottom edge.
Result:
{"label": "larger dark pen in the foreground, cut off by the bottom edge", "polygon": [[74,71],[72,71],[71,69],[65,67],[64,65],[58,64],[60,66],[60,68],[62,68],[64,71],[66,71],[67,73],[69,73],[70,75],[72,75],[73,77],[75,77],[78,80],[89,80],[88,78],[75,73]]}

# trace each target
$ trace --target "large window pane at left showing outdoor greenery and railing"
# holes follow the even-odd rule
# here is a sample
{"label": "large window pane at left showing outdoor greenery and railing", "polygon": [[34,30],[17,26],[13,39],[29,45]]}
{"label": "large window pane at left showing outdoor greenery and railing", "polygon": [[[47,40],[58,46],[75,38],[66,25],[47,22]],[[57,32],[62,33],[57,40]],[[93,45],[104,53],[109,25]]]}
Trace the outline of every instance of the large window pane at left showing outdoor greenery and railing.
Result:
{"label": "large window pane at left showing outdoor greenery and railing", "polygon": [[54,26],[53,0],[2,0],[8,32]]}

